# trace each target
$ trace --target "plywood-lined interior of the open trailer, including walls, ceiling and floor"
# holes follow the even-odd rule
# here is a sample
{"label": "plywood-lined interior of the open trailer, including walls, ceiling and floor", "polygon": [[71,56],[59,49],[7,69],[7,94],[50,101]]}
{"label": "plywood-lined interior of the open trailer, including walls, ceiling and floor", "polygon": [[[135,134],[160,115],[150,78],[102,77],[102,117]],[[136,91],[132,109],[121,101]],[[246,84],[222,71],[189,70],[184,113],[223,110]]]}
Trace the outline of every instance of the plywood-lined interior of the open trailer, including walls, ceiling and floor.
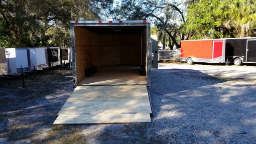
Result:
{"label": "plywood-lined interior of the open trailer, including walls, ceiling and floor", "polygon": [[74,35],[78,85],[147,85],[146,26],[78,26]]}

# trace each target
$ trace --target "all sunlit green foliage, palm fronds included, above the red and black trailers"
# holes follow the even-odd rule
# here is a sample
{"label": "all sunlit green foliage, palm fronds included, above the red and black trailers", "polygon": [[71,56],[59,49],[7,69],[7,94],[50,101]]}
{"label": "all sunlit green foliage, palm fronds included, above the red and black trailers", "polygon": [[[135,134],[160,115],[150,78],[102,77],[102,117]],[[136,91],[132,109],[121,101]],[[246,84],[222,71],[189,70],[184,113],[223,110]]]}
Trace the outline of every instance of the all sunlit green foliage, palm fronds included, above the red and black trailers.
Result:
{"label": "all sunlit green foliage, palm fronds included, above the red and black trailers", "polygon": [[249,0],[201,0],[188,8],[183,30],[189,39],[255,36],[255,3]]}

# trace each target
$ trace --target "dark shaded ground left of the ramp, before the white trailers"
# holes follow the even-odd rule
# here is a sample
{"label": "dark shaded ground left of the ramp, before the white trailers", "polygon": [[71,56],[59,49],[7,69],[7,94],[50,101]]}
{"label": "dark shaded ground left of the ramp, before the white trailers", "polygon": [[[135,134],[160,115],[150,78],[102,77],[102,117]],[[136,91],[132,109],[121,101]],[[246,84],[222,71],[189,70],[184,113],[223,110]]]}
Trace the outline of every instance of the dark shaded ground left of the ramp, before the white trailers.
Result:
{"label": "dark shaded ground left of the ramp, before the white trailers", "polygon": [[0,81],[0,143],[35,143],[59,135],[41,133],[51,131],[57,112],[73,90],[72,77],[66,78],[66,73],[39,72],[36,79],[25,79],[24,88],[20,79]]}

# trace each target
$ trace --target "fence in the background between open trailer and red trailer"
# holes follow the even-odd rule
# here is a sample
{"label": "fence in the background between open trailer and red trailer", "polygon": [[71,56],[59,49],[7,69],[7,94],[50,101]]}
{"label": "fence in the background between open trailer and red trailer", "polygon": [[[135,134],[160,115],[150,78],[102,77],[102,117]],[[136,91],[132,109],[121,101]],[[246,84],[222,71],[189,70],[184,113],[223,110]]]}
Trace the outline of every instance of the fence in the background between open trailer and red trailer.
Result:
{"label": "fence in the background between open trailer and red trailer", "polygon": [[180,49],[178,50],[159,50],[158,61],[179,61],[180,60]]}

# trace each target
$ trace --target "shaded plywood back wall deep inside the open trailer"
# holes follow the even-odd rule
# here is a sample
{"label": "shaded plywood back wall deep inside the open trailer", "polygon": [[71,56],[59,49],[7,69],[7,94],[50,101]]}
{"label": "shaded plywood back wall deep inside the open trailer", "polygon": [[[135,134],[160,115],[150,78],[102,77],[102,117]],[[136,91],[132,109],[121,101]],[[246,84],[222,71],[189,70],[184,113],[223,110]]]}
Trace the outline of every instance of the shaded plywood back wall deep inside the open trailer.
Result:
{"label": "shaded plywood back wall deep inside the open trailer", "polygon": [[101,34],[102,65],[141,65],[141,34]]}

